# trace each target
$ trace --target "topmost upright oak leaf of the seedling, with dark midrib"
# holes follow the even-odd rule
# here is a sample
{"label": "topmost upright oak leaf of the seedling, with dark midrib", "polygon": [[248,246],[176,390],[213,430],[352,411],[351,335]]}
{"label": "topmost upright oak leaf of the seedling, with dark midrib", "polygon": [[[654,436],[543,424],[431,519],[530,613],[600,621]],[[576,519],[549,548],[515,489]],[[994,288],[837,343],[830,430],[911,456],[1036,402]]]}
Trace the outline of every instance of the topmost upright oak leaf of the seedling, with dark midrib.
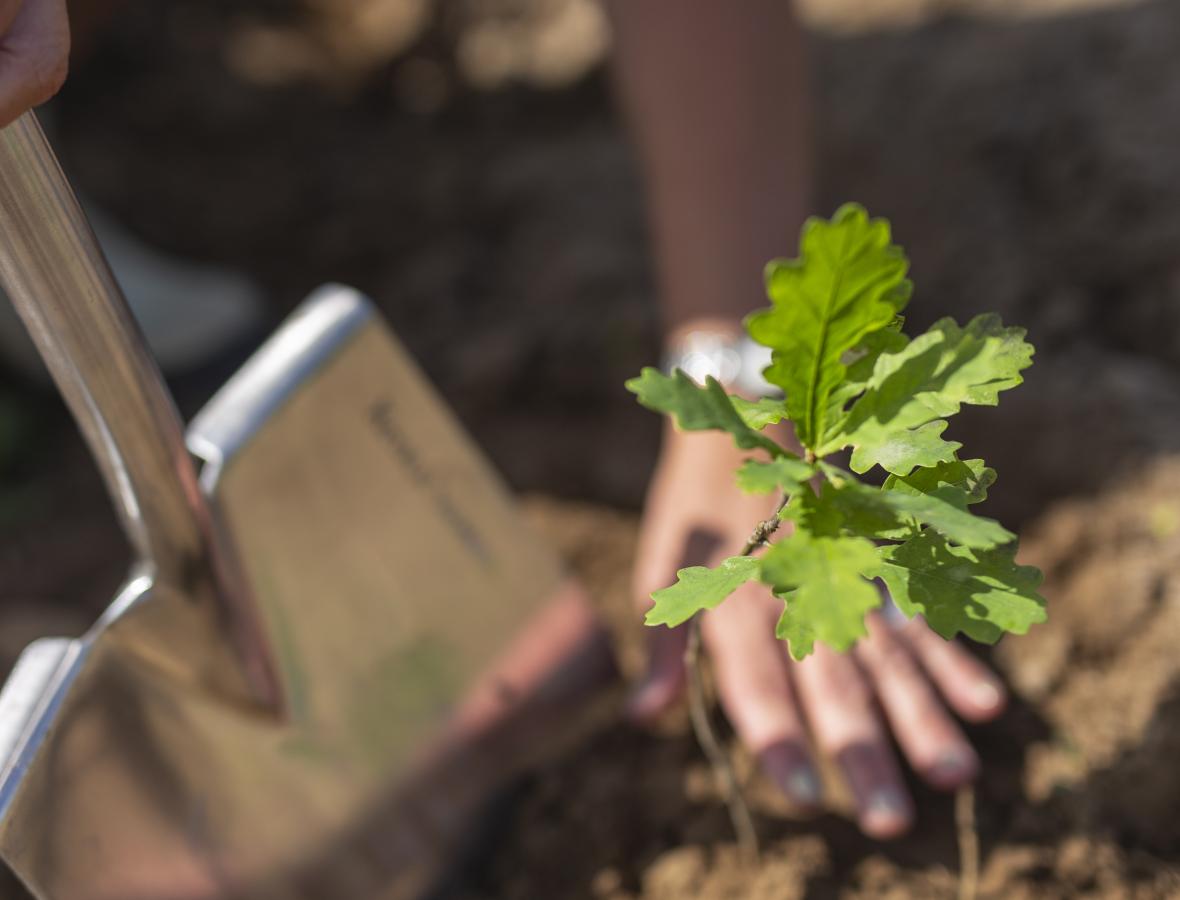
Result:
{"label": "topmost upright oak leaf of the seedling, with dark midrib", "polygon": [[910,298],[909,262],[890,239],[885,219],[846,204],[831,222],[809,218],[799,258],[766,269],[769,309],[746,322],[749,335],[773,350],[766,379],[786,394],[795,435],[814,448],[848,398],[843,356],[866,335],[890,324]]}

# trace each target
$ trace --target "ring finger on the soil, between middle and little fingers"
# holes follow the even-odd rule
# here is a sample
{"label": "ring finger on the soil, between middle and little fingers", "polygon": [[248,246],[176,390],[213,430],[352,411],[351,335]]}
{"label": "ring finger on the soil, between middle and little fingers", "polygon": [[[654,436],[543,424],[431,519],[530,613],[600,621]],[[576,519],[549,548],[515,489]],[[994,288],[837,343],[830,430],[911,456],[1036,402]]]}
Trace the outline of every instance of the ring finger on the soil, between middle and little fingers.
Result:
{"label": "ring finger on the soil, between middle and little fingers", "polygon": [[937,788],[968,783],[979,771],[979,758],[963,731],[885,618],[872,615],[866,624],[868,637],[857,645],[857,658],[872,679],[902,753]]}

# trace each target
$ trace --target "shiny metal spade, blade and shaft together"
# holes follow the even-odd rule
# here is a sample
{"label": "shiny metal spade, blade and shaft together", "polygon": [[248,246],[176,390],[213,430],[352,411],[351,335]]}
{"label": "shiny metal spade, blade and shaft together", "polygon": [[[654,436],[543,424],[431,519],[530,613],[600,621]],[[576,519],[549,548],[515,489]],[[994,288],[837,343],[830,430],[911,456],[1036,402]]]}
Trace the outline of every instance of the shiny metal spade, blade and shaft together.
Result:
{"label": "shiny metal spade, blade and shaft together", "polygon": [[[422,895],[612,674],[585,604],[346,288],[195,420],[190,471],[39,133],[0,144],[0,274],[144,557],[0,695],[0,855],[40,900]],[[218,679],[250,661],[275,699]]]}

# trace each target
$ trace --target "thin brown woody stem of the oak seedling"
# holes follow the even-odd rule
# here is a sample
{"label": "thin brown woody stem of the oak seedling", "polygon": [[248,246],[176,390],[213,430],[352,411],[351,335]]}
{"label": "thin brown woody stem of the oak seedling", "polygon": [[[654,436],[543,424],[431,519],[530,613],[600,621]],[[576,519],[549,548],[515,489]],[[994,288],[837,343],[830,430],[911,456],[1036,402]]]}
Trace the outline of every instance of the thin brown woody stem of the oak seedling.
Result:
{"label": "thin brown woody stem of the oak seedling", "polygon": [[[789,497],[784,494],[782,500],[775,508],[774,514],[760,521],[742,547],[741,556],[748,557],[760,546],[771,539],[771,536],[779,530],[781,519],[779,513],[787,505]],[[713,722],[709,720],[709,707],[704,697],[704,678],[701,672],[701,617],[694,616],[688,623],[688,644],[684,646],[684,669],[688,672],[688,712],[693,721],[693,733],[696,742],[704,751],[704,756],[713,768],[713,776],[716,779],[721,794],[725,797],[726,807],[729,809],[729,820],[733,822],[734,833],[738,837],[738,846],[742,855],[749,862],[758,862],[758,830],[754,828],[754,819],[749,814],[749,806],[742,796],[741,784],[738,782],[738,774],[734,771],[733,760],[717,740],[716,731],[713,730]]]}

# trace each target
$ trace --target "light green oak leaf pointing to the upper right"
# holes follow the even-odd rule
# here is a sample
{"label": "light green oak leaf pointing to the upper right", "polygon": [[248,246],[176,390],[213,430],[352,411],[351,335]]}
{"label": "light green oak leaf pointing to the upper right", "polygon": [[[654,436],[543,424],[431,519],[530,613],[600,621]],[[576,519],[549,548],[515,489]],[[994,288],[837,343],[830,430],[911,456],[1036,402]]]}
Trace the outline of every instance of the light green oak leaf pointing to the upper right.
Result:
{"label": "light green oak leaf pointing to the upper right", "polygon": [[1024,329],[995,315],[965,328],[943,318],[897,353],[877,357],[865,393],[825,434],[819,455],[853,448],[854,472],[874,465],[896,475],[955,459],[961,445],[942,439],[944,419],[963,403],[995,406],[1001,390],[1023,381],[1032,362]]}

